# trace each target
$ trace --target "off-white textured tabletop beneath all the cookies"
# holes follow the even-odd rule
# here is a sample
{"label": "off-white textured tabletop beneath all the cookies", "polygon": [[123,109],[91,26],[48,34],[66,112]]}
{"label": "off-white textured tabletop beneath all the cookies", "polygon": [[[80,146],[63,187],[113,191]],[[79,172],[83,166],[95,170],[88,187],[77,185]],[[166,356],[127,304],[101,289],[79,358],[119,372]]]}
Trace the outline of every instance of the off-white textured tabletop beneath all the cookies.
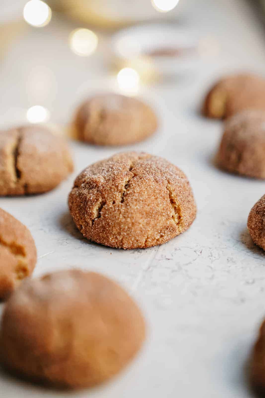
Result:
{"label": "off-white textured tabletop beneath all the cookies", "polygon": [[[35,238],[34,275],[82,267],[120,281],[146,314],[146,345],[132,365],[105,386],[65,394],[0,373],[1,397],[251,396],[244,366],[265,315],[265,254],[251,242],[246,220],[264,194],[265,183],[213,166],[221,123],[203,119],[197,109],[207,86],[226,71],[264,70],[264,33],[244,1],[186,3],[186,22],[200,33],[213,34],[221,44],[221,56],[192,75],[150,88],[144,95],[156,103],[161,128],[152,139],[126,149],[164,156],[186,172],[198,206],[191,228],[168,244],[147,250],[114,250],[82,238],[66,205],[72,181],[87,164],[116,148],[72,143],[75,172],[58,189],[41,196],[0,199],[0,206],[24,222]],[[43,30],[30,29],[2,61],[3,125],[12,124],[19,110],[37,103],[65,122],[84,88],[87,92],[105,88],[101,55],[81,59],[70,53],[71,29],[60,21]]]}

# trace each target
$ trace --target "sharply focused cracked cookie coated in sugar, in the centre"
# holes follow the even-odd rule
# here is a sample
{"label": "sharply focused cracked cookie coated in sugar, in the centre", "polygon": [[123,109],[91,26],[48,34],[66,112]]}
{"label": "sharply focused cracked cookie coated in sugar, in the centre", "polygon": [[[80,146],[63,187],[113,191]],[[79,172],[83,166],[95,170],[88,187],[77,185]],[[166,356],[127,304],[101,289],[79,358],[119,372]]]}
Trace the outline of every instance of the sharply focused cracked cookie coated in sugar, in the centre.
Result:
{"label": "sharply focused cracked cookie coated in sugar, in the centre", "polygon": [[143,152],[119,153],[88,166],[75,179],[68,203],[87,239],[124,249],[167,242],[196,215],[185,174]]}

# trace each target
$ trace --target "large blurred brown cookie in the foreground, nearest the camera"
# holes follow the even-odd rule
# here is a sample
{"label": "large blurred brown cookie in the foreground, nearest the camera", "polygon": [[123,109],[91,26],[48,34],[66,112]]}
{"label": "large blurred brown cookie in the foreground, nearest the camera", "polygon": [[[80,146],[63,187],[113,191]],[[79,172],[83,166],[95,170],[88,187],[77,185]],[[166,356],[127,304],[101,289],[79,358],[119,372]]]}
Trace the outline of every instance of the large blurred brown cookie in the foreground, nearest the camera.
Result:
{"label": "large blurred brown cookie in the foreground, nearest the camera", "polygon": [[33,381],[82,388],[118,373],[144,338],[141,311],[119,285],[72,269],[27,281],[10,297],[0,358]]}

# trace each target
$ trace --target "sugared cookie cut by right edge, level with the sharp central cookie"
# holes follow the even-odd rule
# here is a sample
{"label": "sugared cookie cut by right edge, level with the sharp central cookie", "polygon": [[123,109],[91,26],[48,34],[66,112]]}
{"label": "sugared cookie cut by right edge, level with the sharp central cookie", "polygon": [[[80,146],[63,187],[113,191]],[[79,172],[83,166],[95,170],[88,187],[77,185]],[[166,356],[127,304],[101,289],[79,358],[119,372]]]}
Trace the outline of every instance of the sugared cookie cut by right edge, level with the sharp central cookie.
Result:
{"label": "sugared cookie cut by right edge, level with the sharp central cookie", "polygon": [[250,211],[248,230],[255,244],[265,250],[265,195],[255,203]]}

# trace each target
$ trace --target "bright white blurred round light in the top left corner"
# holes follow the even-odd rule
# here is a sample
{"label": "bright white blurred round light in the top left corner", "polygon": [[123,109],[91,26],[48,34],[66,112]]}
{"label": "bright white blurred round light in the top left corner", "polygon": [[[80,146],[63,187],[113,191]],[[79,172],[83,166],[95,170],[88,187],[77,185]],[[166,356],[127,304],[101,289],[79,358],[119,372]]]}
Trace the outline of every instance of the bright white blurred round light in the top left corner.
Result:
{"label": "bright white blurred round light in the top left corner", "polygon": [[25,4],[23,16],[29,25],[43,27],[50,22],[52,10],[42,0],[30,0]]}

